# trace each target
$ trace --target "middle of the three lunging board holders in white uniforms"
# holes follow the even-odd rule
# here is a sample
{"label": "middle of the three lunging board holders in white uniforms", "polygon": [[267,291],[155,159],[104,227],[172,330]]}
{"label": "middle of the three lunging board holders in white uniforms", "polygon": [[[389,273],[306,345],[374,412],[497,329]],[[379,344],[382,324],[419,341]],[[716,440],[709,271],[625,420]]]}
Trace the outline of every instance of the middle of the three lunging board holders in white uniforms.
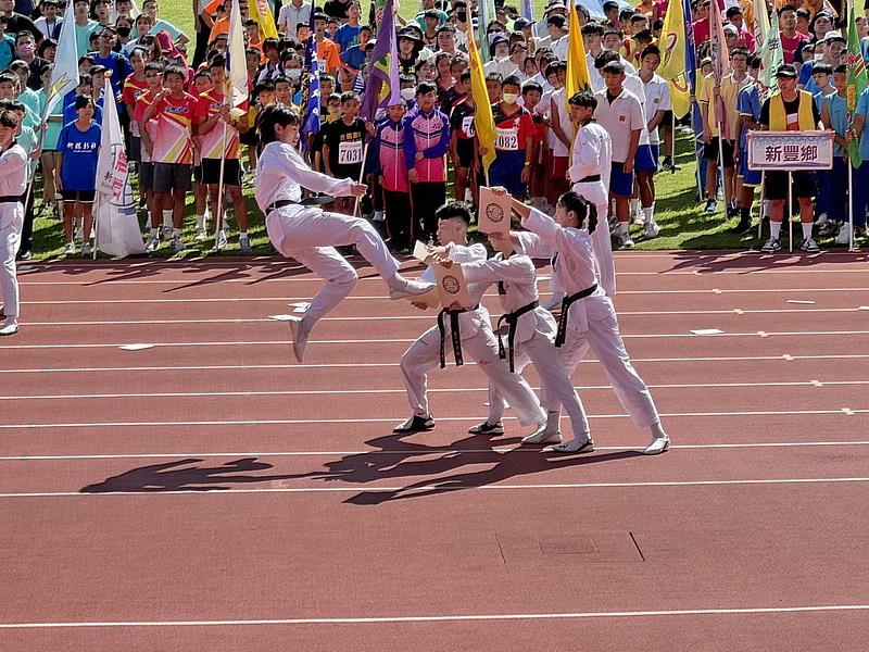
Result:
{"label": "middle of the three lunging board holders in white uniforms", "polygon": [[[502,191],[506,193],[503,188]],[[489,241],[500,253],[488,261],[465,263],[462,269],[469,284],[487,286],[498,284],[501,308],[505,312],[499,324],[505,322],[508,326],[507,350],[504,351],[504,356],[509,360],[511,372],[520,369],[528,361],[532,362],[540,375],[541,404],[550,411],[557,411],[564,405],[570,415],[574,439],[585,443],[574,452],[594,450],[589,438],[585,411],[574,390],[570,377],[558,362],[558,352],[553,343],[556,334],[555,319],[539,304],[534,264],[530,258],[514,250],[508,236],[491,234]],[[496,387],[490,385],[490,415],[493,409],[503,409],[503,398],[507,398],[493,400],[496,390]],[[537,431],[522,439],[522,442],[539,443],[538,438],[545,429],[546,424],[542,423]]]}

